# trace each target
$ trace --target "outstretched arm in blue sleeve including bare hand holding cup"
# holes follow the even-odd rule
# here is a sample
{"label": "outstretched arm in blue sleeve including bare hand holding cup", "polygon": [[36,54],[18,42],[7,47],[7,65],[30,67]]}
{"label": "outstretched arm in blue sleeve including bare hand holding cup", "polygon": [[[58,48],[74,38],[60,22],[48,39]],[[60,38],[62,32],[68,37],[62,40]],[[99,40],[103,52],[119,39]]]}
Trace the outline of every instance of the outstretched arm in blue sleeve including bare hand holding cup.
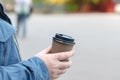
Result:
{"label": "outstretched arm in blue sleeve including bare hand holding cup", "polygon": [[74,55],[73,51],[47,54],[47,48],[27,61],[10,66],[0,66],[0,80],[55,80],[71,66],[63,62]]}

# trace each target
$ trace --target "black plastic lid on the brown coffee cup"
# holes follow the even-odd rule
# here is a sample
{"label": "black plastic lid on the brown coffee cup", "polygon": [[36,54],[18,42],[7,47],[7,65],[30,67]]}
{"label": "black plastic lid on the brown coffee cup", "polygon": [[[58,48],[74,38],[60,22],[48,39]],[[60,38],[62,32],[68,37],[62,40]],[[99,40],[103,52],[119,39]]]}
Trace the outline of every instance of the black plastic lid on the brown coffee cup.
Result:
{"label": "black plastic lid on the brown coffee cup", "polygon": [[55,37],[53,39],[57,42],[63,43],[63,44],[69,44],[69,45],[74,45],[74,39],[71,36],[64,35],[64,34],[59,34],[56,33]]}

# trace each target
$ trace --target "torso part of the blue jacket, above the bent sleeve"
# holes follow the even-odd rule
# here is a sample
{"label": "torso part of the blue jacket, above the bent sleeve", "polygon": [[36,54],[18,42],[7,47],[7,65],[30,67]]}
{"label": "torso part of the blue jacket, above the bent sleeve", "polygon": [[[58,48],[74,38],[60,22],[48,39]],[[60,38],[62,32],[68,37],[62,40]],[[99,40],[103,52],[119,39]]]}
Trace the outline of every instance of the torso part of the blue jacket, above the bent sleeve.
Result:
{"label": "torso part of the blue jacket, above the bent sleeve", "polygon": [[15,43],[15,28],[0,18],[0,66],[20,62],[19,51]]}

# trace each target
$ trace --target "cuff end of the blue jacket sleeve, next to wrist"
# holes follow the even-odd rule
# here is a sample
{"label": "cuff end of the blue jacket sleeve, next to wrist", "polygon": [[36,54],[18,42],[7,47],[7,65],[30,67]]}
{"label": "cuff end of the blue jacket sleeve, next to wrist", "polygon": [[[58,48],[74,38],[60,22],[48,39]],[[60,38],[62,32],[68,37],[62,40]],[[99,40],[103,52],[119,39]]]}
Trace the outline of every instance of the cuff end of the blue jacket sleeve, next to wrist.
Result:
{"label": "cuff end of the blue jacket sleeve, next to wrist", "polygon": [[38,57],[28,59],[28,62],[23,62],[24,65],[29,66],[33,71],[36,80],[50,80],[50,74],[45,63]]}

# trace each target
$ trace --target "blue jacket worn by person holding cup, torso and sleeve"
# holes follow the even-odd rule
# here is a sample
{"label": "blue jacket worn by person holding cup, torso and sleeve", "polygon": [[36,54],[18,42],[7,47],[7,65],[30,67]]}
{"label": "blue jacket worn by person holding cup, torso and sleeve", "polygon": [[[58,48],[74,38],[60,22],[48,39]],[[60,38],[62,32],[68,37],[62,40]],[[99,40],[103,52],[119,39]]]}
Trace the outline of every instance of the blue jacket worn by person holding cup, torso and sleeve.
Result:
{"label": "blue jacket worn by person holding cup, torso and sleeve", "polygon": [[20,60],[13,37],[15,31],[9,22],[0,18],[0,80],[49,80],[48,69],[41,59]]}

